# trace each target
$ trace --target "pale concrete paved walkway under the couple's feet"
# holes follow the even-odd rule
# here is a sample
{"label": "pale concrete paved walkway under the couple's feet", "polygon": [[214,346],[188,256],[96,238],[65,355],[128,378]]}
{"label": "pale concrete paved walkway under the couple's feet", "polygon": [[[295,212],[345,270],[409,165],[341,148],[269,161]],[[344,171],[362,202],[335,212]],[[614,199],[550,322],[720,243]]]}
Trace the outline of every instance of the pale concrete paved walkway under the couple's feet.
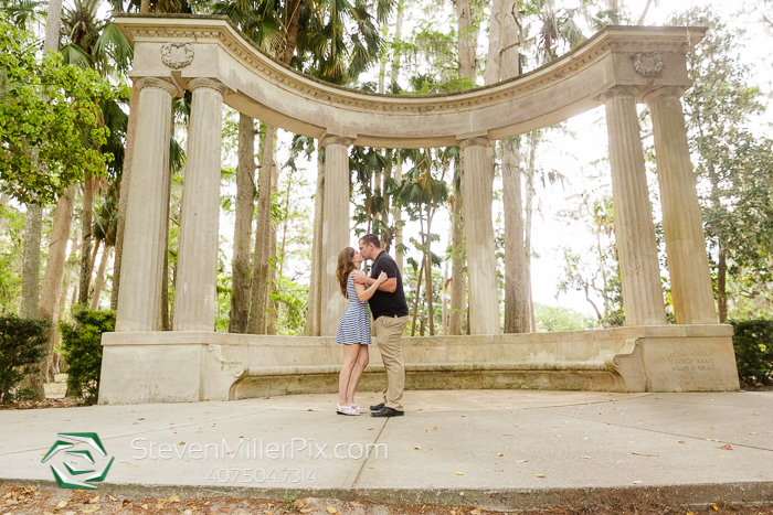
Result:
{"label": "pale concrete paved walkway under the couple's feet", "polygon": [[41,459],[56,433],[94,431],[115,457],[100,489],[124,495],[183,487],[525,507],[618,489],[773,501],[773,393],[407,391],[405,416],[392,419],[337,416],[335,405],[335,395],[299,395],[0,411],[0,481],[51,483],[64,454]]}

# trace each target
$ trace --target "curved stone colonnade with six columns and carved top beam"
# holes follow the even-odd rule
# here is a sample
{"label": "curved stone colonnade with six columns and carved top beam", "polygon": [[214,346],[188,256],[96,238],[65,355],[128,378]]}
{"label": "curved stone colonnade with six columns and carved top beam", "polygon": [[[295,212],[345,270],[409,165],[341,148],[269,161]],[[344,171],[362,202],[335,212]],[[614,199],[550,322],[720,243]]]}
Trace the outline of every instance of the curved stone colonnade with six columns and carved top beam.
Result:
{"label": "curved stone colonnade with six columns and carved top beam", "polygon": [[[316,204],[311,335],[332,335],[347,301],[338,293],[338,253],[351,243],[348,151],[459,146],[472,334],[498,334],[499,302],[491,197],[491,140],[546,127],[603,105],[610,138],[615,235],[627,325],[661,325],[653,208],[637,103],[652,108],[663,226],[678,324],[716,324],[700,206],[680,103],[690,86],[685,53],[701,28],[607,28],[570,55],[528,76],[441,96],[364,95],[316,82],[261,54],[218,17],[123,17],[136,45],[140,89],[137,140],[116,331],[157,330],[169,208],[173,96],[192,92],[181,210],[176,331],[213,331],[218,258],[221,109],[317,138],[325,149]],[[687,41],[685,39],[687,31]],[[652,64],[650,67],[647,67]],[[319,175],[322,176],[321,173]],[[320,216],[321,214],[321,216]]]}

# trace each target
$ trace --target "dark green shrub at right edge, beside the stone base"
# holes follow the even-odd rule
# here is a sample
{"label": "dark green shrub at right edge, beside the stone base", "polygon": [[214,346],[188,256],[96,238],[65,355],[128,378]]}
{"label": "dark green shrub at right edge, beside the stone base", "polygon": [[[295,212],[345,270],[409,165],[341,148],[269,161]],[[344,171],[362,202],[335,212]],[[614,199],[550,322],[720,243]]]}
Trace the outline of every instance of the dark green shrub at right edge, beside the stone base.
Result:
{"label": "dark green shrub at right edge, beside the stone base", "polygon": [[773,384],[773,320],[730,320],[738,377],[744,383]]}

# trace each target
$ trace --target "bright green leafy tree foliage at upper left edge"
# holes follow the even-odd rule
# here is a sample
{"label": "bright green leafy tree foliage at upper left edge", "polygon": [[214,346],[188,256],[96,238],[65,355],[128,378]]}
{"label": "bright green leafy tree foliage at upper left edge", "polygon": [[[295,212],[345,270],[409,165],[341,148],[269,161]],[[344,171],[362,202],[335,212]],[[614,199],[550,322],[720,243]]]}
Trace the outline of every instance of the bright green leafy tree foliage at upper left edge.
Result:
{"label": "bright green leafy tree foliage at upper left edge", "polygon": [[[32,34],[0,18],[0,186],[23,203],[49,203],[109,153],[100,101],[119,96],[95,72],[41,56]],[[80,142],[81,144],[73,144]]]}

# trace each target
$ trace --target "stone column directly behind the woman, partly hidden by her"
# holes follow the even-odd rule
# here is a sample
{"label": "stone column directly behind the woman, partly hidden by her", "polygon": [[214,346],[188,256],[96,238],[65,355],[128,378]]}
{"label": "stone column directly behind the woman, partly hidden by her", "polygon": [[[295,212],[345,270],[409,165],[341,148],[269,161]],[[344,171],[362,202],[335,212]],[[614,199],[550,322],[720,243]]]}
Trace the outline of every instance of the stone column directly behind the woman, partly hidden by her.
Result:
{"label": "stone column directly behind the woman, partly hidden by her", "polygon": [[319,141],[325,148],[325,199],[322,201],[322,259],[320,334],[333,336],[347,309],[347,299],[336,280],[338,254],[350,245],[349,234],[349,147],[351,140],[326,136]]}

